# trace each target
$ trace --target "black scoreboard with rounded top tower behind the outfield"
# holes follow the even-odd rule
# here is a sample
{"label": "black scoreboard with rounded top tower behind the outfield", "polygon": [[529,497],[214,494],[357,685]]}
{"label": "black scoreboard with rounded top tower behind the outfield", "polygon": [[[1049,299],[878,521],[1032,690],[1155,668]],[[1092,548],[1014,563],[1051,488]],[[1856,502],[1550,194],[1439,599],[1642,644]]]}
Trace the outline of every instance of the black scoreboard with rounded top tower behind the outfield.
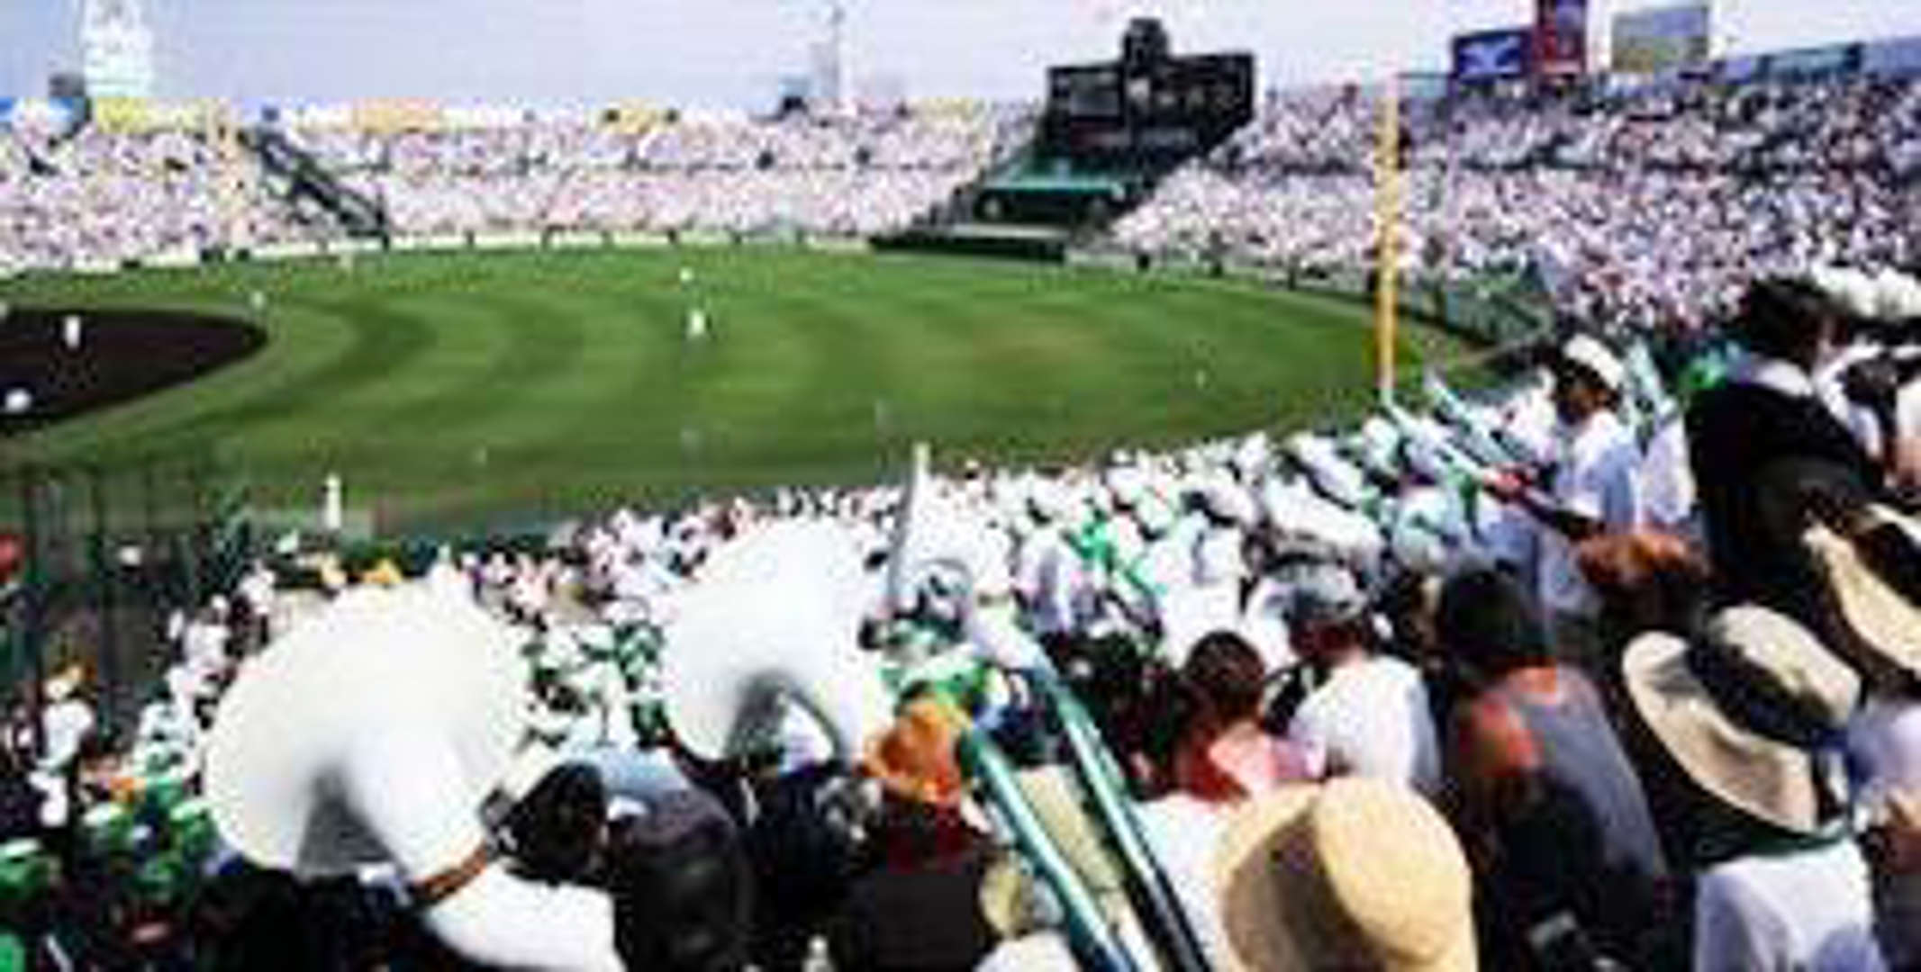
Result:
{"label": "black scoreboard with rounded top tower behind the outfield", "polygon": [[1251,54],[1174,58],[1164,35],[1156,44],[1153,31],[1158,23],[1131,25],[1118,61],[1047,71],[1047,156],[1099,165],[1172,163],[1252,121]]}

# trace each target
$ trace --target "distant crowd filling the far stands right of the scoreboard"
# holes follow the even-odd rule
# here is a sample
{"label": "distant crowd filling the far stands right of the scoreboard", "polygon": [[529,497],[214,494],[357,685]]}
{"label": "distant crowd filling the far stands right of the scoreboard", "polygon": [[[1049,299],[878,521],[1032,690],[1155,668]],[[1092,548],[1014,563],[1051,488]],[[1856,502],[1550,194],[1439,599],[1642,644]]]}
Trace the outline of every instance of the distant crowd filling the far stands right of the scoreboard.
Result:
{"label": "distant crowd filling the far stands right of the scoreboard", "polygon": [[[1375,102],[1274,100],[1118,227],[1145,252],[1302,271],[1377,246]],[[1698,330],[1810,263],[1921,259],[1921,85],[1667,86],[1612,98],[1410,104],[1402,273],[1537,269],[1583,321]]]}

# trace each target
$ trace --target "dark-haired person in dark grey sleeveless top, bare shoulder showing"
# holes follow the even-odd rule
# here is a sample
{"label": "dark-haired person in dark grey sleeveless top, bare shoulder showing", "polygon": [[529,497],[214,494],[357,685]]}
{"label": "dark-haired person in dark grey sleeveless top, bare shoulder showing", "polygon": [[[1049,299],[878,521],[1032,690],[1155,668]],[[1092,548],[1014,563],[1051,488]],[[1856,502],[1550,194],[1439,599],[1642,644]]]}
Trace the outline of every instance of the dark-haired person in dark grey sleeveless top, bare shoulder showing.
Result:
{"label": "dark-haired person in dark grey sleeveless top, bare shoulder showing", "polygon": [[1437,636],[1473,686],[1450,718],[1447,803],[1479,878],[1489,962],[1587,949],[1656,962],[1667,864],[1600,693],[1550,661],[1527,592],[1498,571],[1447,582]]}

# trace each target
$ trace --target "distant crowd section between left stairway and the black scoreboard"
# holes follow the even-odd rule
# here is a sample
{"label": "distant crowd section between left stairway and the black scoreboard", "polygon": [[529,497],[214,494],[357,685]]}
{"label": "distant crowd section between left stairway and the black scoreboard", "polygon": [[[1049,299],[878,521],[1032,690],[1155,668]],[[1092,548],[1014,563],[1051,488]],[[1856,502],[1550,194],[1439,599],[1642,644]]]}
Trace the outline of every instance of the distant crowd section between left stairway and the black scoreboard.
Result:
{"label": "distant crowd section between left stairway and the black scoreboard", "polygon": [[[403,232],[899,229],[1022,138],[1020,111],[684,119],[620,134],[534,125],[359,136],[327,158]],[[323,146],[328,142],[321,140]]]}

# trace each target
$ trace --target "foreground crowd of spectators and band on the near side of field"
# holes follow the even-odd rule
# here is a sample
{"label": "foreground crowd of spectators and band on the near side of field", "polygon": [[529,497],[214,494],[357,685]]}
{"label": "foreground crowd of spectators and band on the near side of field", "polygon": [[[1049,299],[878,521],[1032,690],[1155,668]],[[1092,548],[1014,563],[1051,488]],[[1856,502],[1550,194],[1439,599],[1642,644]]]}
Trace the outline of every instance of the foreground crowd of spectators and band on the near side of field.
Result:
{"label": "foreground crowd of spectators and band on the near side of field", "polygon": [[192,889],[13,912],[98,964],[1911,968],[1917,298],[1821,269],[1349,432],[323,561],[294,622],[261,569],[131,751],[48,686],[0,891]]}

